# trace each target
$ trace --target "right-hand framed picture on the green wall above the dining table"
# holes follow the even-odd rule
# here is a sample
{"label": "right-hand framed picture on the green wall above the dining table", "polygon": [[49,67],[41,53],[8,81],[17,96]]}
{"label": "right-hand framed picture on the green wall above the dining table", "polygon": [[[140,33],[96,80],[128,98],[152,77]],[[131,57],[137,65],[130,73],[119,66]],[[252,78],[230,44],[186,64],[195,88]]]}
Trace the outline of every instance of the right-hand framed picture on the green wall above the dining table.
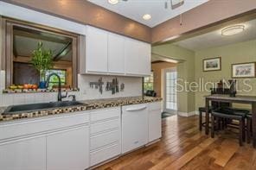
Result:
{"label": "right-hand framed picture on the green wall above the dining table", "polygon": [[255,78],[256,62],[237,63],[232,65],[232,78]]}

